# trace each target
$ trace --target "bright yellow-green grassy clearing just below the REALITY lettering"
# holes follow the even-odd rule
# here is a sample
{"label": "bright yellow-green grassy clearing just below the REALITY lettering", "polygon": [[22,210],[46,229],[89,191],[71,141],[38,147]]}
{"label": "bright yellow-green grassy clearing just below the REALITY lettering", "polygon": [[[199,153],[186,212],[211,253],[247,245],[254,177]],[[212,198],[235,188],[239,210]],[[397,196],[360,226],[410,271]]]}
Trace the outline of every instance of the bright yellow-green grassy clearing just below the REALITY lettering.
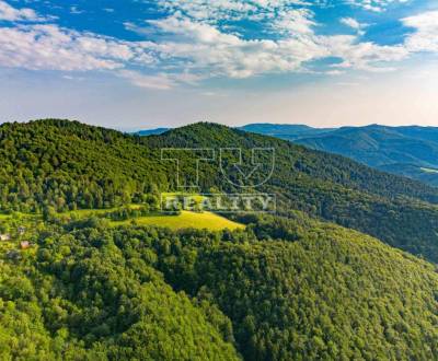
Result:
{"label": "bright yellow-green grassy clearing just below the REALITY lettering", "polygon": [[140,217],[135,220],[126,220],[119,222],[111,222],[113,226],[131,224],[135,221],[138,225],[158,225],[165,226],[172,230],[181,229],[197,229],[220,231],[229,229],[231,231],[244,229],[243,224],[230,221],[223,217],[211,212],[195,213],[189,211],[182,211],[178,216],[154,214]]}

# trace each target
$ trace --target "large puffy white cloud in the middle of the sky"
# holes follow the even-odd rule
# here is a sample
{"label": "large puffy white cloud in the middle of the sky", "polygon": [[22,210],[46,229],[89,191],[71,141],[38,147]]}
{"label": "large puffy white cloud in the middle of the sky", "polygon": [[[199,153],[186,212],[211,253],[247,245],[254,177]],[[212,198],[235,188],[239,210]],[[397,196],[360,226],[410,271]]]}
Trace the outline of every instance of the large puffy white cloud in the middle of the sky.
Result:
{"label": "large puffy white cloud in the middle of the sky", "polygon": [[163,59],[181,61],[186,69],[206,77],[247,78],[264,72],[299,71],[304,61],[328,54],[308,31],[303,31],[306,36],[277,42],[246,40],[224,34],[210,24],[176,15],[150,23],[177,38],[155,44],[153,49]]}

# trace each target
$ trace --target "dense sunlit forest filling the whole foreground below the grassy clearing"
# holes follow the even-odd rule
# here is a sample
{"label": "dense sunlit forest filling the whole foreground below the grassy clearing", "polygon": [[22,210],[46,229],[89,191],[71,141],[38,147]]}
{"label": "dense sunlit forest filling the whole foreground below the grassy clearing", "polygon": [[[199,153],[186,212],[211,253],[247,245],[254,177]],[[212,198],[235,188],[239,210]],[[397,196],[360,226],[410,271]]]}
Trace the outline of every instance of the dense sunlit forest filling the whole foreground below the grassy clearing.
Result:
{"label": "dense sunlit forest filling the whole foreground below the grassy clearing", "polygon": [[436,267],[295,213],[47,224],[0,261],[2,360],[433,360]]}

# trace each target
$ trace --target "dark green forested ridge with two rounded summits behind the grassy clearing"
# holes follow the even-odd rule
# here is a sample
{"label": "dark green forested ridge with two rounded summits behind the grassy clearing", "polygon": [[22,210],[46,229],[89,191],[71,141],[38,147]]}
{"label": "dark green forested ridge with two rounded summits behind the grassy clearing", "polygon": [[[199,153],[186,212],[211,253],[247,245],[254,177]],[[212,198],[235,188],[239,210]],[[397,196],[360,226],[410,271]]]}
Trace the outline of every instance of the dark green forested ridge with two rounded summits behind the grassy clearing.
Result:
{"label": "dark green forested ridge with two rounded summits behind the grassy clearing", "polygon": [[[278,213],[299,209],[438,261],[438,189],[373,171],[342,156],[212,124],[136,137],[68,120],[0,127],[2,210],[104,208],[176,190],[175,163],[162,148],[275,149],[275,170],[258,188],[278,197]],[[186,167],[188,175],[195,166]],[[241,191],[218,161],[200,166],[203,191]]]}

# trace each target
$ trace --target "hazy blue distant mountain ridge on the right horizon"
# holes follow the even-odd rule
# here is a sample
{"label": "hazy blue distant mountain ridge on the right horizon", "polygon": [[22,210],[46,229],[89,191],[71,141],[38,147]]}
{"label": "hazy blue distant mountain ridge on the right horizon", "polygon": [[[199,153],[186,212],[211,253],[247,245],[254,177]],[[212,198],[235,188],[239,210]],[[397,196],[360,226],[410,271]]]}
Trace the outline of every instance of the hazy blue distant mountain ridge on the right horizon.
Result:
{"label": "hazy blue distant mountain ridge on the right horizon", "polygon": [[370,125],[320,129],[263,124],[241,129],[348,156],[384,172],[438,186],[438,127]]}

